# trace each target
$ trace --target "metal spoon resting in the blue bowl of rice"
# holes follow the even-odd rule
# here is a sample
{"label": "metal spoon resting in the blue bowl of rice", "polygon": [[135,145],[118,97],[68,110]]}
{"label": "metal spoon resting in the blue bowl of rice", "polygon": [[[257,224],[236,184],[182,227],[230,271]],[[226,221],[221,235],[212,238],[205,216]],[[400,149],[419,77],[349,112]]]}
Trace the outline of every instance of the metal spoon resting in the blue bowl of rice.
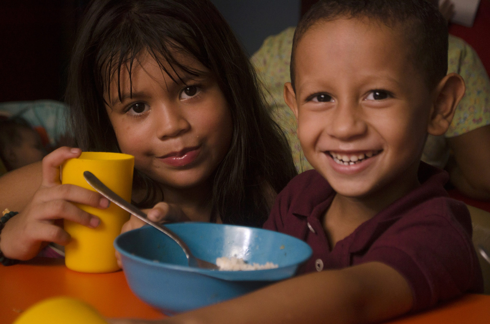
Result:
{"label": "metal spoon resting in the blue bowl of rice", "polygon": [[107,186],[104,185],[102,183],[102,181],[100,181],[93,173],[91,173],[89,171],[85,171],[83,173],[83,177],[85,178],[85,181],[87,181],[88,184],[92,186],[92,188],[97,190],[104,197],[106,197],[110,201],[114,202],[116,205],[120,206],[125,211],[128,211],[129,213],[140,218],[144,222],[150,224],[151,226],[157,228],[158,230],[162,231],[163,233],[168,235],[170,238],[172,238],[182,248],[182,250],[184,250],[184,253],[187,257],[187,261],[189,262],[189,266],[198,267],[198,268],[205,268],[205,269],[218,269],[218,266],[216,264],[198,259],[195,256],[193,256],[193,254],[191,253],[191,250],[189,250],[189,247],[187,246],[187,244],[184,241],[182,241],[175,233],[173,233],[171,230],[169,230],[164,225],[157,224],[157,223],[154,223],[151,220],[149,220],[145,213],[143,213],[136,206],[128,203],[126,200],[121,198],[118,194],[116,194],[115,192],[113,192],[112,190],[107,188]]}

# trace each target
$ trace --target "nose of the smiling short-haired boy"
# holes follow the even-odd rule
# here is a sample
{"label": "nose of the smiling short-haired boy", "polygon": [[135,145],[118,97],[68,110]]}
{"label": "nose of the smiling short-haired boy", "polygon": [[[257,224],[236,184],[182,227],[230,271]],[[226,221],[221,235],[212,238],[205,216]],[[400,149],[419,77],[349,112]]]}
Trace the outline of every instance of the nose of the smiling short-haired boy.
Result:
{"label": "nose of the smiling short-haired boy", "polygon": [[361,108],[357,103],[339,103],[330,117],[328,133],[340,140],[353,140],[365,135],[368,130],[368,126],[362,117]]}

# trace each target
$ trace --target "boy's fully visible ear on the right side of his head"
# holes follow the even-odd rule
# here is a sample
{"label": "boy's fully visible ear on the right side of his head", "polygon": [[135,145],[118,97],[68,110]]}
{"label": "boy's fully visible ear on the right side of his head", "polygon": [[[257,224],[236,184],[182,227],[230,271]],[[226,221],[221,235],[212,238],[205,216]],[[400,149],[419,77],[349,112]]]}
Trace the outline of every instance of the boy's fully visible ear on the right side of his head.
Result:
{"label": "boy's fully visible ear on the right side of his head", "polygon": [[444,134],[454,117],[459,102],[465,95],[465,81],[456,73],[446,75],[435,90],[427,132],[434,136]]}

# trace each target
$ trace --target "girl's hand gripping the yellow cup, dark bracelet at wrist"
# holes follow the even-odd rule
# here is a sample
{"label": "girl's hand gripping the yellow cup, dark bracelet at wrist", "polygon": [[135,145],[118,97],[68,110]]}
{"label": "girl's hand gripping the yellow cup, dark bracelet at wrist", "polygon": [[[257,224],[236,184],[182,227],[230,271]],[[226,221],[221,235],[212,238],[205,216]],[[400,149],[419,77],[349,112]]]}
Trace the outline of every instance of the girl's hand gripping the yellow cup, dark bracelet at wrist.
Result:
{"label": "girl's hand gripping the yellow cup, dark bracelet at wrist", "polygon": [[69,219],[95,228],[98,217],[82,211],[74,203],[107,208],[109,200],[102,195],[75,185],[61,184],[60,165],[80,156],[80,149],[62,147],[43,159],[43,181],[32,200],[1,231],[0,250],[10,259],[28,260],[35,257],[44,242],[66,245],[70,235],[56,220]]}

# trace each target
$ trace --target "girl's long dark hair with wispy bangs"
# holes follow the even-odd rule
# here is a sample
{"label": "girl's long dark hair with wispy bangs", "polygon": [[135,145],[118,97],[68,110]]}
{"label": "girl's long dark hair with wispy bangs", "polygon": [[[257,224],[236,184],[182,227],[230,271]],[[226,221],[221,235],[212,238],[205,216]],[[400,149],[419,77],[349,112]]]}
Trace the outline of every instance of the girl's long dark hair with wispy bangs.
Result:
{"label": "girl's long dark hair with wispy bangs", "polygon": [[[232,143],[214,173],[211,221],[261,226],[270,211],[270,189],[280,192],[296,174],[287,140],[272,121],[249,59],[209,0],[94,0],[81,23],[69,67],[67,101],[74,145],[84,151],[119,152],[103,94],[121,68],[147,50],[163,71],[197,75],[175,50],[211,71],[228,102]],[[164,65],[162,63],[168,63]],[[118,80],[118,79],[116,79]],[[118,89],[119,90],[119,89]],[[120,93],[120,91],[119,91]],[[121,99],[121,98],[120,98]],[[146,189],[137,204],[162,199],[158,184],[135,173]]]}

